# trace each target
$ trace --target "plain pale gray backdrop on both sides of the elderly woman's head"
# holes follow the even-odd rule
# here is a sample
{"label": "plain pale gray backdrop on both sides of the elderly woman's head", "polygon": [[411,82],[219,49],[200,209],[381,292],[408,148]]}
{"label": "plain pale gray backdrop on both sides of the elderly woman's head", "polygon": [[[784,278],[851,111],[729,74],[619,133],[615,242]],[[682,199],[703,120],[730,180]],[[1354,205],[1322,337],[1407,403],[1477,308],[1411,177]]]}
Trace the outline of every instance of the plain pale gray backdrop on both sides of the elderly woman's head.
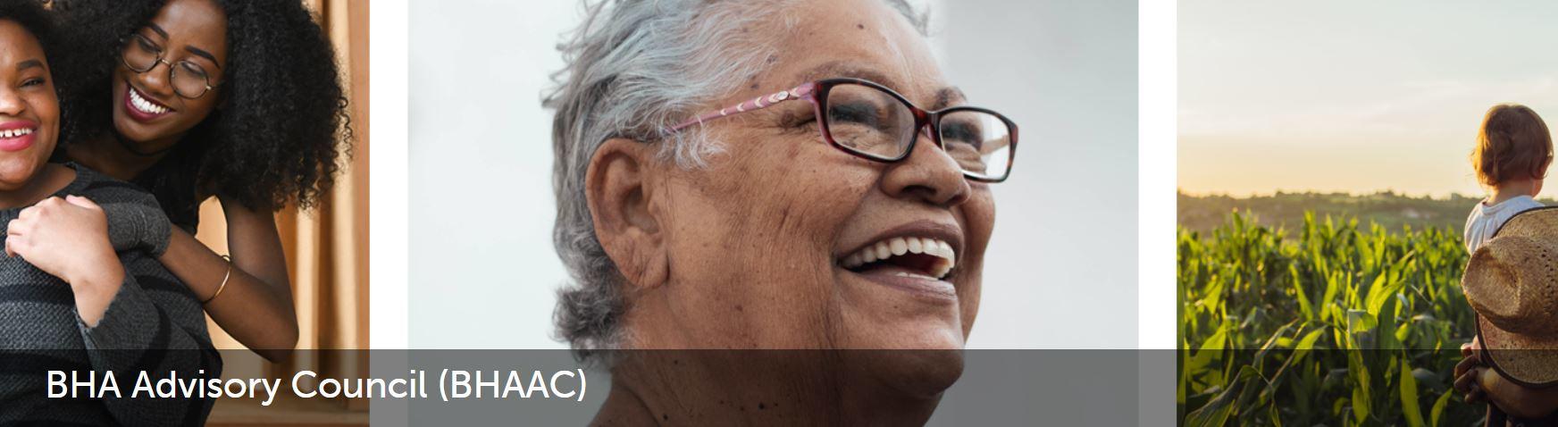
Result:
{"label": "plain pale gray backdrop on both sides of the elderly woman's head", "polygon": [[[969,348],[1136,348],[1136,2],[919,3],[949,79],[1022,131]],[[411,348],[564,348],[541,94],[580,11],[411,2]]]}

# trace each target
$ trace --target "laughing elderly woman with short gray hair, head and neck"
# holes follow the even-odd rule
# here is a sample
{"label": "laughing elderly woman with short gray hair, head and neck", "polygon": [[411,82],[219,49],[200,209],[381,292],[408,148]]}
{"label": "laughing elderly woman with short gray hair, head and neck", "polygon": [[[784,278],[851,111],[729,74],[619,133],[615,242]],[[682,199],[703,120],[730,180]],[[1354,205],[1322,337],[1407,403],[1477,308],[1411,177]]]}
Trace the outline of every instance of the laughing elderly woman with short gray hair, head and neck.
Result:
{"label": "laughing elderly woman with short gray hair, head and neck", "polygon": [[961,374],[1017,140],[943,78],[924,20],[623,0],[562,50],[559,333],[586,357],[816,349],[617,354],[597,422],[924,422]]}

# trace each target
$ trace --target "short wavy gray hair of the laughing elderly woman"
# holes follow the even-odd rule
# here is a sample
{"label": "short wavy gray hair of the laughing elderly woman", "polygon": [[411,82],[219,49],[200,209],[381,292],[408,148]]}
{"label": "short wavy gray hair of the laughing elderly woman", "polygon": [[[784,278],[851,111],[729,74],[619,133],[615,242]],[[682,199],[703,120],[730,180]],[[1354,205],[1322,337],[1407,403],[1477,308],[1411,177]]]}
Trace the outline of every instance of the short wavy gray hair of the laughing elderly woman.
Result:
{"label": "short wavy gray hair of the laughing elderly woman", "polygon": [[[701,128],[665,136],[662,129],[724,98],[773,55],[773,36],[742,33],[759,19],[795,26],[787,6],[796,0],[603,0],[586,2],[584,22],[558,47],[567,65],[542,106],[553,109],[553,173],[558,218],[553,245],[572,287],[558,291],[558,340],[580,358],[622,348],[623,277],[595,237],[584,196],[584,173],[603,142],[628,137],[659,142],[661,161],[704,167],[721,146]],[[925,16],[905,0],[882,0],[925,33]],[[781,17],[781,19],[774,19]],[[782,28],[781,28],[782,30]],[[771,33],[768,33],[771,34]]]}

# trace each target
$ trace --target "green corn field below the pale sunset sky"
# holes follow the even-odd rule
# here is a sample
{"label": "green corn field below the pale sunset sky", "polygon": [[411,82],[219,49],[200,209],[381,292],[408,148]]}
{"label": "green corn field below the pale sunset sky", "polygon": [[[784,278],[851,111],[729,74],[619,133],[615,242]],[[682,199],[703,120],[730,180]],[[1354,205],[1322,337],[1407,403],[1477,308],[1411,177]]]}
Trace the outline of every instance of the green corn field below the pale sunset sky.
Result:
{"label": "green corn field below the pale sunset sky", "polygon": [[1234,212],[1179,229],[1183,425],[1469,425],[1450,390],[1472,310],[1458,231],[1302,229]]}

